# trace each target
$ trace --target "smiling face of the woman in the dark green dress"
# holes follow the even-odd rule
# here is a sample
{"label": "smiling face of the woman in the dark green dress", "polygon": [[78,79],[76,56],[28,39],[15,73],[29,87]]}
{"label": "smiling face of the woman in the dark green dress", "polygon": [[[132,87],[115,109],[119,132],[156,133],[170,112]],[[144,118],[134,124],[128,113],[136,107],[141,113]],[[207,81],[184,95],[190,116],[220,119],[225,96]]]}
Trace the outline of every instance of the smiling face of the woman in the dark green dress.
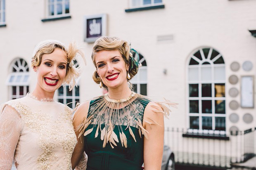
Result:
{"label": "smiling face of the woman in the dark green dress", "polygon": [[127,85],[129,66],[123,60],[119,50],[100,50],[94,57],[97,73],[108,89]]}

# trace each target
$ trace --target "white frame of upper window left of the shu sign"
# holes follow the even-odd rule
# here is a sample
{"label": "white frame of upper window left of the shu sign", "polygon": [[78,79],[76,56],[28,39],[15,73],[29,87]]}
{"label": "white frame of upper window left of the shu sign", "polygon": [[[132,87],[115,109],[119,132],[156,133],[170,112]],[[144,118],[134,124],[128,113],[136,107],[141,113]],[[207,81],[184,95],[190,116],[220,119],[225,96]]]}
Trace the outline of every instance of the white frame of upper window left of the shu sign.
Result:
{"label": "white frame of upper window left of the shu sign", "polygon": [[[66,1],[69,1],[69,13],[65,13],[65,3]],[[49,6],[50,4],[53,4],[54,6],[54,14],[50,15]],[[62,14],[57,14],[57,4],[62,4]],[[54,18],[60,18],[60,17],[70,17],[70,0],[53,0],[53,2],[49,2],[49,0],[46,0],[46,17],[47,19],[54,19]]]}

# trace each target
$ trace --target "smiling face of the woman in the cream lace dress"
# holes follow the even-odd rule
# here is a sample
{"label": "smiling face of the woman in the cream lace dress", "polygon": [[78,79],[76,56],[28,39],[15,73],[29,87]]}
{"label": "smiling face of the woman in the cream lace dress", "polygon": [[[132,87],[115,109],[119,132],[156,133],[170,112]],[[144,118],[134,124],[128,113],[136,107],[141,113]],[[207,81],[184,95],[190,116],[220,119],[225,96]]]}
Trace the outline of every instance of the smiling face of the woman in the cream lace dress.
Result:
{"label": "smiling face of the woman in the cream lace dress", "polygon": [[66,76],[66,53],[56,48],[51,54],[43,54],[40,66],[33,68],[37,72],[37,84],[43,91],[55,92]]}

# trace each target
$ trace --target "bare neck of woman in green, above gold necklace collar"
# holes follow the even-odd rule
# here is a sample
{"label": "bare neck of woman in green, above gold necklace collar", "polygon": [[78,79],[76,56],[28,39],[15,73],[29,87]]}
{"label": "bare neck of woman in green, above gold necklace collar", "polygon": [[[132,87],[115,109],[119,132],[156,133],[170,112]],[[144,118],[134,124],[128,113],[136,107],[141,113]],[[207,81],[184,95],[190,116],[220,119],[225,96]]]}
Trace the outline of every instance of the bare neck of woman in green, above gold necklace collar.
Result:
{"label": "bare neck of woman in green, above gold necklace collar", "polygon": [[132,91],[130,90],[127,83],[122,86],[116,87],[114,89],[109,88],[109,98],[110,99],[125,99],[130,96]]}

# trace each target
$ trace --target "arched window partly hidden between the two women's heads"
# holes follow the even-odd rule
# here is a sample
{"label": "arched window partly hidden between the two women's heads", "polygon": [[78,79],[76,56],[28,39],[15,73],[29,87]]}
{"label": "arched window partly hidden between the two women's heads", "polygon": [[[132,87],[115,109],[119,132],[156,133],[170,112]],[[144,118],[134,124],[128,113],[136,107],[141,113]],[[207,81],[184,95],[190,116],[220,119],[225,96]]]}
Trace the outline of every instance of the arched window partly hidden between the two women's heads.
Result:
{"label": "arched window partly hidden between the two women's heads", "polygon": [[[78,67],[78,62],[74,61],[74,66]],[[57,99],[58,102],[68,104],[72,109],[76,107],[76,103],[79,102],[79,80],[76,80],[77,87],[75,86],[72,91],[69,91],[69,85],[62,85],[58,89]],[[72,103],[71,103],[72,102]]]}

